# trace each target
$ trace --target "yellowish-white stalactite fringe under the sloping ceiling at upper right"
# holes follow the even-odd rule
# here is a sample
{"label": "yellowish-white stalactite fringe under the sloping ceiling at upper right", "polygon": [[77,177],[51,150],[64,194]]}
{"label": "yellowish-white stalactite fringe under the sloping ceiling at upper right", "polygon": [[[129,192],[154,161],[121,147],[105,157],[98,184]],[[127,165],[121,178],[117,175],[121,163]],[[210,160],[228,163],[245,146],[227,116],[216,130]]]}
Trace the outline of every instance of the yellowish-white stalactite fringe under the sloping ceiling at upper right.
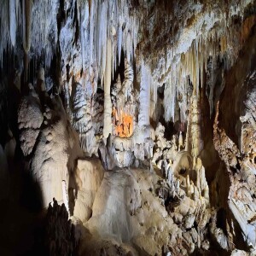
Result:
{"label": "yellowish-white stalactite fringe under the sloping ceiling at upper right", "polygon": [[[243,3],[241,9],[244,11],[246,6],[247,3]],[[198,96],[200,86],[203,86],[204,73],[207,73],[207,60],[210,56],[213,59],[219,56],[220,61],[224,61],[225,70],[229,70],[234,65],[243,42],[248,38],[253,24],[255,24],[255,16],[250,16],[243,20],[240,29],[237,29],[232,24],[231,15],[230,20],[227,21],[227,18],[224,17],[224,15],[218,17],[218,19],[216,17],[216,21],[211,23],[211,26],[212,24],[218,24],[218,26],[212,27],[212,29],[204,33],[199,32],[195,39],[191,40],[189,38],[191,44],[181,41],[181,43],[175,44],[169,50],[169,54],[167,54],[169,58],[166,61],[166,73],[159,81],[160,84],[166,83],[166,120],[175,119],[174,106],[177,90],[179,90],[180,84],[186,84],[188,77],[193,84],[194,95]],[[222,29],[219,29],[219,26]],[[159,75],[159,73],[157,74]],[[172,99],[171,104],[170,99]]]}

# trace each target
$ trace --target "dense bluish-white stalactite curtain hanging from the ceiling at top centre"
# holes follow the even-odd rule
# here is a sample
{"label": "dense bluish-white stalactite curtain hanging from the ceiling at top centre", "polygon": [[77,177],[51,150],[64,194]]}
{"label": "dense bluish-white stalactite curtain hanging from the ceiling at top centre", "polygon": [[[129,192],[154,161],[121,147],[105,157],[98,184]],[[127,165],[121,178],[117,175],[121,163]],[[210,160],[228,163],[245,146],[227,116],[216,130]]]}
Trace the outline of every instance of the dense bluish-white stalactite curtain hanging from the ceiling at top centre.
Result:
{"label": "dense bluish-white stalactite curtain hanging from the ceiling at top centre", "polygon": [[82,33],[84,34],[83,55],[85,58],[90,56],[90,60],[83,62],[84,69],[95,67],[96,80],[101,79],[103,84],[108,39],[111,40],[113,51],[112,70],[114,71],[117,67],[116,63],[120,62],[121,49],[124,50],[127,60],[131,63],[137,45],[138,19],[129,15],[129,4],[124,0],[90,1],[90,4],[84,4],[84,9],[81,11],[84,13],[85,25]]}

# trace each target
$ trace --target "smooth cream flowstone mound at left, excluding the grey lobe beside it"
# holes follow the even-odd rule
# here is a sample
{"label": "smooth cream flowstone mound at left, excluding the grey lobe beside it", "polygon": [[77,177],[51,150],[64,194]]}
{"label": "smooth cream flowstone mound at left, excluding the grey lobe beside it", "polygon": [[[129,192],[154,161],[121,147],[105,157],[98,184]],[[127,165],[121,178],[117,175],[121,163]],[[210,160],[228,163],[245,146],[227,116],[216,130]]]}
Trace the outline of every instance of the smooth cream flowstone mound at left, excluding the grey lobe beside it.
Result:
{"label": "smooth cream flowstone mound at left, excluding the grey lobe beside it", "polygon": [[68,188],[75,160],[83,155],[79,138],[67,120],[60,97],[49,99],[49,103],[52,105],[44,110],[44,128],[32,156],[32,173],[43,191],[44,206],[53,196],[57,201],[64,200],[63,181]]}

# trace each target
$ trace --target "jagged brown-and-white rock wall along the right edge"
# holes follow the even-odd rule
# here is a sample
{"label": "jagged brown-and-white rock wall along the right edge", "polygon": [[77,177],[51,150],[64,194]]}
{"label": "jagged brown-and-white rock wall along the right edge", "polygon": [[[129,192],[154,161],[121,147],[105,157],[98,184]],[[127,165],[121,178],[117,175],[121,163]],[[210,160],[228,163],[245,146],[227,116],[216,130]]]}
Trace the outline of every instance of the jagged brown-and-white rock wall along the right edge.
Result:
{"label": "jagged brown-and-white rock wall along the right edge", "polygon": [[[254,74],[254,73],[253,73]],[[214,145],[221,159],[224,160],[230,176],[229,207],[236,221],[240,225],[243,238],[248,246],[255,247],[255,225],[254,225],[254,183],[255,183],[255,161],[254,144],[255,127],[253,126],[253,115],[255,103],[253,103],[253,91],[255,89],[254,76],[247,81],[247,99],[245,104],[245,115],[241,117],[241,148],[227,136],[224,129],[218,125],[218,107],[214,123]],[[248,117],[248,118],[246,118]],[[246,134],[246,137],[244,136]],[[252,147],[253,145],[253,147]]]}

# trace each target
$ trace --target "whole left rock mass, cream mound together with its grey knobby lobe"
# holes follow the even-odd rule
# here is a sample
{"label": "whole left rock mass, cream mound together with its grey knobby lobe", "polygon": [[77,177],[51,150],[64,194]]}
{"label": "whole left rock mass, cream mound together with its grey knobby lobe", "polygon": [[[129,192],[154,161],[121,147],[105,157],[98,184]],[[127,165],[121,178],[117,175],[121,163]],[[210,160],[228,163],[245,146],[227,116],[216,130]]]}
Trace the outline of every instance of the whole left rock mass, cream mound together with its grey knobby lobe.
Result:
{"label": "whole left rock mass, cream mound together with its grey knobby lobe", "polygon": [[75,188],[75,160],[83,153],[60,96],[49,97],[44,72],[40,74],[38,93],[29,84],[28,96],[20,101],[20,148],[25,156],[29,155],[32,178],[42,190],[44,207],[55,197],[56,201],[64,202],[69,211],[67,193],[69,186]]}

